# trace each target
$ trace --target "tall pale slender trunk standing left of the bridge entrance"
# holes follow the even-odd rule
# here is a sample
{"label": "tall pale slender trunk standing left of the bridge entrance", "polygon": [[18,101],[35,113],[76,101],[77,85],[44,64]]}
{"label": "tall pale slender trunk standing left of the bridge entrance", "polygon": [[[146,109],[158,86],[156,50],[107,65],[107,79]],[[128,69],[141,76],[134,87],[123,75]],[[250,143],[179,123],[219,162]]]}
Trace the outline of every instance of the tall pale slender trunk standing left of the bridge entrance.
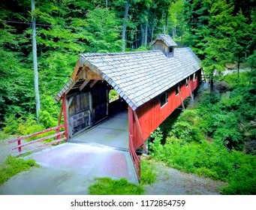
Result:
{"label": "tall pale slender trunk standing left of the bridge entrance", "polygon": [[40,98],[38,88],[38,57],[37,57],[37,41],[35,39],[35,0],[32,0],[32,45],[33,45],[33,64],[34,64],[34,83],[35,83],[35,108],[37,120],[39,122]]}

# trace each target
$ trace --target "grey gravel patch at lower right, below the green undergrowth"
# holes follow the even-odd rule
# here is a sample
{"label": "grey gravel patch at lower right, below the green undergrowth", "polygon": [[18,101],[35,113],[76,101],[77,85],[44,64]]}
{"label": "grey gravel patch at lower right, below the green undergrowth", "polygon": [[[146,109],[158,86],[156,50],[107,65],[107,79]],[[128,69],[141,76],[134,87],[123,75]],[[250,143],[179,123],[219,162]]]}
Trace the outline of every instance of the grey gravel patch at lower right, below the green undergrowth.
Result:
{"label": "grey gravel patch at lower right, below the green undergrowth", "polygon": [[146,195],[218,195],[225,184],[157,164],[157,180],[144,187]]}

